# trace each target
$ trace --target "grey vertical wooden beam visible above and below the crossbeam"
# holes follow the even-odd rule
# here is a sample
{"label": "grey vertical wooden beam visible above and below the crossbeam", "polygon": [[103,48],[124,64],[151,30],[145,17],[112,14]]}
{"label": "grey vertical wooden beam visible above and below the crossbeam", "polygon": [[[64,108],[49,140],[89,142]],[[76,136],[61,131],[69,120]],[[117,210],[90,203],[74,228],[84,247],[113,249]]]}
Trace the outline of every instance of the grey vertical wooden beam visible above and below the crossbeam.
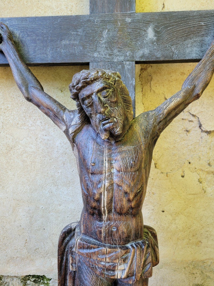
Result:
{"label": "grey vertical wooden beam visible above and below the crossbeam", "polygon": [[[90,0],[90,14],[125,12],[135,12],[135,0]],[[128,88],[129,94],[132,98],[133,113],[135,116],[135,62],[108,61],[90,63],[90,69],[96,67],[120,73],[122,81]]]}

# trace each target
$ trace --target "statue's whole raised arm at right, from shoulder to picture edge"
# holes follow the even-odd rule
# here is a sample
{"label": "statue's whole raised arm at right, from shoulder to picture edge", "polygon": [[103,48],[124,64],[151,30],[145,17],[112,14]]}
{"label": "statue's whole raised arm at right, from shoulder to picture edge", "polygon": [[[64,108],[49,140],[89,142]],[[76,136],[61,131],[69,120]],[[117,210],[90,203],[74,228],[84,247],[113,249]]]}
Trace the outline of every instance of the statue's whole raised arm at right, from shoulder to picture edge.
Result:
{"label": "statue's whole raised arm at right, from shoulder to picture edge", "polygon": [[201,96],[208,86],[213,76],[213,72],[214,40],[203,59],[184,81],[181,90],[151,112],[152,121],[158,134],[160,134],[191,102]]}

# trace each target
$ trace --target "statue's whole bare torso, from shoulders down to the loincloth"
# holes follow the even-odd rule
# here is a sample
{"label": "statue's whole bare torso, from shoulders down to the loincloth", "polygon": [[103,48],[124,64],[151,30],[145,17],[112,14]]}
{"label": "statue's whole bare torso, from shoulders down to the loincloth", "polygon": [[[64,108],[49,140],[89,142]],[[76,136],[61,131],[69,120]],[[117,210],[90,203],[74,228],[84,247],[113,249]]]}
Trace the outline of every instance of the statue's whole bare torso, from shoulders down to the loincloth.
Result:
{"label": "statue's whole bare torso, from shoulders down to the loincloth", "polygon": [[90,124],[82,128],[73,145],[84,203],[82,233],[114,245],[142,238],[141,208],[153,148],[150,125],[142,116],[117,142],[102,140]]}

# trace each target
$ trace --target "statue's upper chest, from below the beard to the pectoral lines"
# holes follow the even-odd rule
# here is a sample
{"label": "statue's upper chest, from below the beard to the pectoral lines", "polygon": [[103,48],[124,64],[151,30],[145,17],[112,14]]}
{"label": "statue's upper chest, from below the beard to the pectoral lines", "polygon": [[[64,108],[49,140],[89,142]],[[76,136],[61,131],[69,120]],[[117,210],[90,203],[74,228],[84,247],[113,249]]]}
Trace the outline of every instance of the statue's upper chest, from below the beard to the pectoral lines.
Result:
{"label": "statue's upper chest, from below the beard to the pectoral lines", "polygon": [[106,176],[109,172],[131,174],[137,172],[144,158],[144,146],[136,130],[118,142],[94,138],[81,132],[76,140],[76,153],[80,171],[88,176]]}

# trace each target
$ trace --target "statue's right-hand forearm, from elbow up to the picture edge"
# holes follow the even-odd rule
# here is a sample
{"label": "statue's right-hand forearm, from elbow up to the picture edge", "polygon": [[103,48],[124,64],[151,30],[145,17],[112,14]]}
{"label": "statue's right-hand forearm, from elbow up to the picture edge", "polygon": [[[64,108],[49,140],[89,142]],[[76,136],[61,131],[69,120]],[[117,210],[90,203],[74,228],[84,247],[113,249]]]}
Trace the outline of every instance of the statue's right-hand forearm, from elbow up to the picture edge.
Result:
{"label": "statue's right-hand forearm, from elbow up to the picture edge", "polygon": [[193,94],[189,98],[189,103],[198,99],[208,86],[214,72],[214,40],[209,46],[203,59],[196,65],[195,69],[183,83],[182,89],[194,86]]}

